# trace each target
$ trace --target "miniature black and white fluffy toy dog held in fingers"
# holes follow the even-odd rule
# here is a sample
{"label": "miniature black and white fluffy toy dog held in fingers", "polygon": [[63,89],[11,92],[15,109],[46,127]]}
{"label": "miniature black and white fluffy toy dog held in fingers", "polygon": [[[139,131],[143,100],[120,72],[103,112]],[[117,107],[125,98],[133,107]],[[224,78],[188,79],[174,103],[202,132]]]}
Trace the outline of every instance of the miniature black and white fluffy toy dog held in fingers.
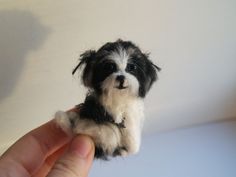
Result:
{"label": "miniature black and white fluffy toy dog held in fingers", "polygon": [[73,74],[82,67],[89,89],[77,112],[56,113],[64,131],[92,137],[95,157],[137,153],[143,127],[143,99],[157,80],[154,65],[134,43],[117,40],[81,55]]}

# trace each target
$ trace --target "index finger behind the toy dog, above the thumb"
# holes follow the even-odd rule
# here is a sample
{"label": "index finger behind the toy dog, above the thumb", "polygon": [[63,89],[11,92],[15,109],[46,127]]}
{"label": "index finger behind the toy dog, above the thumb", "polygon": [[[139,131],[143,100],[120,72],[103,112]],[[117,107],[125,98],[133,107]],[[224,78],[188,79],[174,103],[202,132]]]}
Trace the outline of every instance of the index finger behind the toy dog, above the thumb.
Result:
{"label": "index finger behind the toy dog, above the thumb", "polygon": [[32,175],[50,154],[70,140],[71,137],[52,120],[20,138],[1,158],[16,163]]}

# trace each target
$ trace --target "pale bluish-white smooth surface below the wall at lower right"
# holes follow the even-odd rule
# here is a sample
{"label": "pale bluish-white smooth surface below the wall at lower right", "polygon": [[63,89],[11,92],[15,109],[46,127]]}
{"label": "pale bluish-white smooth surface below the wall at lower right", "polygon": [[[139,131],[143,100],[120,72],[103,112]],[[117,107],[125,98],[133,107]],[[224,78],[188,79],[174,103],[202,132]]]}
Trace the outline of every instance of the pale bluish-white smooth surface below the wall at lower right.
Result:
{"label": "pale bluish-white smooth surface below the wall at lower right", "polygon": [[90,177],[235,177],[236,121],[144,137],[129,158],[96,161]]}

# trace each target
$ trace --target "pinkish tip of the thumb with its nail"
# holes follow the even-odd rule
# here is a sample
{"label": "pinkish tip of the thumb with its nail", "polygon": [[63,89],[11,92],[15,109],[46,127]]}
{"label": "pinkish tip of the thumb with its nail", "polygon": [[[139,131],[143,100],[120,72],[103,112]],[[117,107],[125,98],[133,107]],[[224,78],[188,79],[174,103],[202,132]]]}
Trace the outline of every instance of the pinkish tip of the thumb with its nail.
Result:
{"label": "pinkish tip of the thumb with its nail", "polygon": [[80,158],[86,158],[93,148],[91,138],[79,135],[72,140],[69,151],[75,152]]}

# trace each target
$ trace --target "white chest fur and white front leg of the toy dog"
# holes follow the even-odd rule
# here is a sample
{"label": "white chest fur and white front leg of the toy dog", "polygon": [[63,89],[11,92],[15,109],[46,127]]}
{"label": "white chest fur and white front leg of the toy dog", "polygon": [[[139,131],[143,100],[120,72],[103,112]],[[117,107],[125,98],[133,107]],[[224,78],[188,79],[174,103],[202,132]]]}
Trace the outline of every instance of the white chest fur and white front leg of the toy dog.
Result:
{"label": "white chest fur and white front leg of the toy dog", "polygon": [[130,96],[126,91],[114,91],[103,95],[100,101],[115,123],[124,122],[121,144],[126,145],[129,153],[136,153],[140,147],[144,122],[143,99]]}

